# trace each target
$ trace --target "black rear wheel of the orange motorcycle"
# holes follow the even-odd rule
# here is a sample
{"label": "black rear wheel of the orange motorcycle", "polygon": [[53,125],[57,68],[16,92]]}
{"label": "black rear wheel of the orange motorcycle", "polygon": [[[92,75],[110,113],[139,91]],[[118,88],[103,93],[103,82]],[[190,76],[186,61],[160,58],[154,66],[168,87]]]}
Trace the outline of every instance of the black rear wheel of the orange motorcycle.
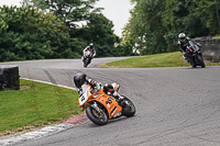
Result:
{"label": "black rear wheel of the orange motorcycle", "polygon": [[135,114],[135,106],[127,97],[122,100],[122,114],[127,117],[131,117]]}

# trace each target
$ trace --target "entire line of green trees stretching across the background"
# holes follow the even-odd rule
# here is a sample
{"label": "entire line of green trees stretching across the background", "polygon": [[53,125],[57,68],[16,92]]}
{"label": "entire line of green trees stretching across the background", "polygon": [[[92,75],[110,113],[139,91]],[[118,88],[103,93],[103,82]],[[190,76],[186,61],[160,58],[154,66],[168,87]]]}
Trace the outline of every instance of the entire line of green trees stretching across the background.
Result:
{"label": "entire line of green trees stretching across the background", "polygon": [[177,50],[182,32],[220,34],[218,0],[131,0],[121,38],[94,7],[97,1],[23,0],[21,7],[0,7],[0,61],[78,58],[91,42],[98,57],[166,53]]}

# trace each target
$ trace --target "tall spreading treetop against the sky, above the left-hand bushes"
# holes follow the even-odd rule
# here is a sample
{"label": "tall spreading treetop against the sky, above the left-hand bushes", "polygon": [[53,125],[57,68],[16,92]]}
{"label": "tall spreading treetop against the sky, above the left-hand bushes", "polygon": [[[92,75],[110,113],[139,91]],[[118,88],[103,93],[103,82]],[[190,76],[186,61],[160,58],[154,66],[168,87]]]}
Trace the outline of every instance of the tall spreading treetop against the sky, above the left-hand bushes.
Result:
{"label": "tall spreading treetop against the sky, above the left-hand bushes", "polygon": [[98,0],[24,0],[23,4],[33,4],[43,11],[51,11],[63,20],[72,30],[76,27],[75,22],[87,21],[90,14],[99,12],[94,4]]}

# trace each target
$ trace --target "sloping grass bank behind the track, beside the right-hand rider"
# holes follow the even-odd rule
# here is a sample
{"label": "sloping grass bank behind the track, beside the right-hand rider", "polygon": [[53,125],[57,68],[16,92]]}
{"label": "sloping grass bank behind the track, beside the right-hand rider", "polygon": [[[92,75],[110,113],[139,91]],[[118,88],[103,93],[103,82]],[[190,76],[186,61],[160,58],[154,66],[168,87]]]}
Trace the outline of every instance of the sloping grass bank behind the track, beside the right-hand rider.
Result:
{"label": "sloping grass bank behind the track, beside the right-hand rider", "polygon": [[[190,66],[183,59],[183,54],[179,52],[155,54],[148,56],[133,57],[123,60],[101,64],[98,67],[102,68],[144,68],[144,67],[185,67]],[[220,65],[206,63],[206,65]]]}

